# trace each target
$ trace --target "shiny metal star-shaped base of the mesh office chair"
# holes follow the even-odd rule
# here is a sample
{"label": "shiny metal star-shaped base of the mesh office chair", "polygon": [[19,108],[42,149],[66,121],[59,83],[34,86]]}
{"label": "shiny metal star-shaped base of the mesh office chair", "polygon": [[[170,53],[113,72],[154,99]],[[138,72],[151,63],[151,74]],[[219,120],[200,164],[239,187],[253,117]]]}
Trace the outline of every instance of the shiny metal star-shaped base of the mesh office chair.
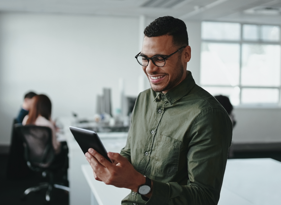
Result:
{"label": "shiny metal star-shaped base of the mesh office chair", "polygon": [[54,188],[57,188],[57,189],[63,189],[67,192],[70,191],[70,188],[69,187],[66,187],[66,186],[63,186],[63,185],[59,185],[59,184],[50,184],[50,183],[42,183],[40,184],[39,186],[35,186],[35,187],[30,187],[28,189],[26,189],[24,192],[23,192],[23,196],[22,196],[22,199],[25,199],[25,197],[30,193],[30,192],[38,192],[40,191],[41,189],[45,189],[45,188],[48,188],[47,189],[47,192],[46,192],[46,201],[49,202],[50,201],[50,194],[51,194],[51,191],[52,189]]}

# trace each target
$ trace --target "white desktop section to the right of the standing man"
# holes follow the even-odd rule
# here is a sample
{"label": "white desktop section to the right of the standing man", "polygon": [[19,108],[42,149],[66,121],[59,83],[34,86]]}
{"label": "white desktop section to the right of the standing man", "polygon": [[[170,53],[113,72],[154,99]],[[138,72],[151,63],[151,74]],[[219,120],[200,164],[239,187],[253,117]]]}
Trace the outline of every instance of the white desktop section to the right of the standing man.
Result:
{"label": "white desktop section to the right of the standing man", "polygon": [[281,204],[281,162],[227,160],[219,205]]}

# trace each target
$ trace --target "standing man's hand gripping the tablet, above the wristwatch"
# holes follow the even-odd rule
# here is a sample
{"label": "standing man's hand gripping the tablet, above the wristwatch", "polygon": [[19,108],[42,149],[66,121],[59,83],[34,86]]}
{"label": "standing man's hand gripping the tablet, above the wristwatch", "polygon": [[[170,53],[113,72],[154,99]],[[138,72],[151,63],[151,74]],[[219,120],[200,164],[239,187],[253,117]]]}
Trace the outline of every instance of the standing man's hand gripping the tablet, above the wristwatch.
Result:
{"label": "standing man's hand gripping the tablet, above the wristwatch", "polygon": [[137,172],[133,165],[119,153],[107,153],[113,163],[92,148],[85,156],[93,169],[96,180],[115,187],[131,189],[134,192],[138,191],[141,184],[145,184],[145,176]]}

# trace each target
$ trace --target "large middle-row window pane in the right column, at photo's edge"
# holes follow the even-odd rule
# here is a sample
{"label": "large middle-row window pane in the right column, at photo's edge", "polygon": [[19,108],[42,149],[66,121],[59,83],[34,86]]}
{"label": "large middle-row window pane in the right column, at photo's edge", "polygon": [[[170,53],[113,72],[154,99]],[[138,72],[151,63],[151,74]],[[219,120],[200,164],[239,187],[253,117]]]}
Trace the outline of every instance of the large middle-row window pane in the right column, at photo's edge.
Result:
{"label": "large middle-row window pane in the right column, at photo's edge", "polygon": [[241,84],[280,85],[280,45],[242,45]]}

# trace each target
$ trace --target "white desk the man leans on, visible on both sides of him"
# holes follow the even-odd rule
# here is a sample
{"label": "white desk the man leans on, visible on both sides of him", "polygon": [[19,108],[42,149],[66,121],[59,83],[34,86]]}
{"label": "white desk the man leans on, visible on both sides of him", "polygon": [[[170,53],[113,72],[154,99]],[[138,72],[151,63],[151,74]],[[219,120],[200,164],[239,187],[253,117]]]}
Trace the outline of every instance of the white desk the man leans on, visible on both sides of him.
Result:
{"label": "white desk the man leans on, visible on both sides of him", "polygon": [[[130,190],[96,181],[90,165],[82,165],[92,191],[91,205],[117,205]],[[218,205],[281,204],[281,162],[273,159],[227,160]]]}

